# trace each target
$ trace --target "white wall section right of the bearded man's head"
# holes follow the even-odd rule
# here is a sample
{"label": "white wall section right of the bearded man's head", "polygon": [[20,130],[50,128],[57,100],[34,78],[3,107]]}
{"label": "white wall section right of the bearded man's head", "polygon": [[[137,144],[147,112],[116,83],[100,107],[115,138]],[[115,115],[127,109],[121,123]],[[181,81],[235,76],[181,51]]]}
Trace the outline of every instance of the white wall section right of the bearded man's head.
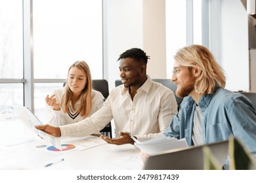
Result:
{"label": "white wall section right of the bearded man's head", "polygon": [[223,59],[226,88],[249,92],[247,13],[240,0],[223,1]]}

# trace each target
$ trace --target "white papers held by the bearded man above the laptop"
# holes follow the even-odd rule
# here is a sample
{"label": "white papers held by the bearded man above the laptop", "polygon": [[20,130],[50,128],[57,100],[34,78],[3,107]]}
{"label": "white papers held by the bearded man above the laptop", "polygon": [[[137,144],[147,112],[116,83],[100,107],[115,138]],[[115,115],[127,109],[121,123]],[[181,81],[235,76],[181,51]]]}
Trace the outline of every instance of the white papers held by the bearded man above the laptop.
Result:
{"label": "white papers held by the bearded man above the laptop", "polygon": [[167,137],[165,135],[161,135],[154,139],[150,139],[148,141],[140,142],[131,136],[133,141],[135,141],[135,146],[137,146],[142,152],[146,152],[147,154],[155,154],[157,152],[162,152],[165,150],[172,150],[175,148],[184,148],[187,147],[186,139],[176,139],[174,137]]}

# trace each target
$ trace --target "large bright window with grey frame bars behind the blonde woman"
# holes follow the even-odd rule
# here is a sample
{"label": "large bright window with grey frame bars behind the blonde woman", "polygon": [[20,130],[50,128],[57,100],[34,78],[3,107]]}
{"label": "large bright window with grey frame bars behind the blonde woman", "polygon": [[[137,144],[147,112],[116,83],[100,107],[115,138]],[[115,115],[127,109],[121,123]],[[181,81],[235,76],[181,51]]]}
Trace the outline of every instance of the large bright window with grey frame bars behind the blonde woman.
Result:
{"label": "large bright window with grey frame bars behind the blonde woman", "polygon": [[0,114],[31,104],[45,120],[44,99],[70,65],[84,60],[93,79],[102,78],[102,53],[102,0],[1,0]]}

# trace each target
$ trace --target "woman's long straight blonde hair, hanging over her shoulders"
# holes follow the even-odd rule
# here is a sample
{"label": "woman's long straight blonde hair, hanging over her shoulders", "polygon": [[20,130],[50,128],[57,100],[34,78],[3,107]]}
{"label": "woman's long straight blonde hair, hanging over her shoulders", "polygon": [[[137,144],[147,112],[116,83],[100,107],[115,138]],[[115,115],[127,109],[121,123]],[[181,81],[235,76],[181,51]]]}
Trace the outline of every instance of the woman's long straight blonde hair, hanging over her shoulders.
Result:
{"label": "woman's long straight blonde hair, hanging over her shoulders", "polygon": [[[90,114],[91,108],[92,108],[92,90],[93,90],[93,81],[91,78],[91,71],[89,69],[89,66],[85,61],[75,61],[70,66],[70,69],[72,67],[77,67],[77,69],[80,69],[83,71],[83,74],[86,76],[86,84],[85,88],[83,88],[79,99],[81,101],[81,106],[78,108],[77,112],[80,112],[80,115],[83,117],[86,117]],[[70,69],[68,69],[68,73],[70,73]],[[68,81],[68,80],[67,80]],[[68,105],[70,104],[71,97],[72,97],[72,91],[70,90],[70,87],[68,86],[68,83],[65,85],[64,95],[61,99],[61,107],[63,112],[68,112]]]}

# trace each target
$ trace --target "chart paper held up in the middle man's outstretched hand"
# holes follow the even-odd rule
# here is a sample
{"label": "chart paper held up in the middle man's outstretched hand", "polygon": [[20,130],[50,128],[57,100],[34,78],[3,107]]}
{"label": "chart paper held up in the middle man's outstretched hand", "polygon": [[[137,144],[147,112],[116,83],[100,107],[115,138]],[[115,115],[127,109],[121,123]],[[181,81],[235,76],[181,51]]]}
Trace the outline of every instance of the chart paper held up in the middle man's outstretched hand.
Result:
{"label": "chart paper held up in the middle man's outstretched hand", "polygon": [[39,129],[35,128],[35,125],[43,125],[39,119],[30,111],[28,107],[13,107],[14,112],[18,114],[18,118],[32,131],[37,133],[40,137],[45,139],[45,141],[50,142],[55,148],[58,148],[59,150],[62,150],[60,138],[53,137],[52,135],[49,135],[48,133],[45,133]]}

